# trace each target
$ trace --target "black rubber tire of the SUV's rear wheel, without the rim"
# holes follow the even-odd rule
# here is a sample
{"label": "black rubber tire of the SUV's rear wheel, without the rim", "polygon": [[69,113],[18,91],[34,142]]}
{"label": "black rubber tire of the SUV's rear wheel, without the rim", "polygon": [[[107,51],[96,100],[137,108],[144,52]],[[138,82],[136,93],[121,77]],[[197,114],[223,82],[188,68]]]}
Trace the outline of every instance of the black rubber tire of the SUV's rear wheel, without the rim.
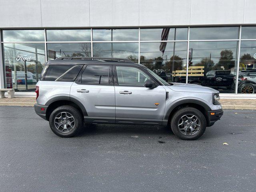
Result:
{"label": "black rubber tire of the SUV's rear wheel, without the rim", "polygon": [[[56,127],[54,125],[54,118],[60,112],[68,112],[74,117],[75,126],[74,126],[73,130],[71,130],[71,132],[62,133],[56,129]],[[50,118],[49,118],[49,124],[50,124],[50,128],[51,128],[52,132],[54,132],[54,134],[56,134],[60,137],[72,137],[78,132],[79,128],[82,126],[81,114],[76,108],[74,108],[72,106],[60,106],[60,107],[56,108],[51,113]]]}

